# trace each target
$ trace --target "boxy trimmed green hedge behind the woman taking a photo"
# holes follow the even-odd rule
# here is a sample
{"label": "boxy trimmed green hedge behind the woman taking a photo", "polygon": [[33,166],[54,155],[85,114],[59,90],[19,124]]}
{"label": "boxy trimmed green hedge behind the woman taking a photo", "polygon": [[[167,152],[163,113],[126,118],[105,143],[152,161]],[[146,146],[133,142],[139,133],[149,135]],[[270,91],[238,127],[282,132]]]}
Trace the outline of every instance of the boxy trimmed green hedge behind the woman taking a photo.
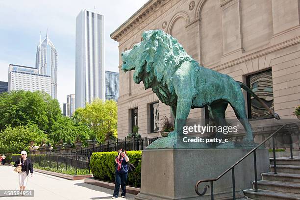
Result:
{"label": "boxy trimmed green hedge behind the woman taking a photo", "polygon": [[[95,178],[115,182],[117,151],[95,152],[91,156],[90,168]],[[128,173],[127,184],[141,187],[142,151],[127,151],[129,162],[135,166],[134,172]]]}

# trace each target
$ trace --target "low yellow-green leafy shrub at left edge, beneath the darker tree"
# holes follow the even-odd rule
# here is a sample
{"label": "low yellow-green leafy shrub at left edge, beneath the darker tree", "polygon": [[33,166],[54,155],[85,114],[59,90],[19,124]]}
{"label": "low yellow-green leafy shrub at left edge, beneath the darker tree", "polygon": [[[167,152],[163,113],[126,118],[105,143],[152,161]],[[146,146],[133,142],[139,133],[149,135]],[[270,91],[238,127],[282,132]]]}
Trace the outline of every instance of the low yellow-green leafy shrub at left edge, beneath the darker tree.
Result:
{"label": "low yellow-green leafy shrub at left edge, beneath the darker tree", "polygon": [[31,142],[35,145],[48,141],[48,136],[37,125],[8,125],[0,131],[0,152],[20,153],[22,150],[29,150]]}

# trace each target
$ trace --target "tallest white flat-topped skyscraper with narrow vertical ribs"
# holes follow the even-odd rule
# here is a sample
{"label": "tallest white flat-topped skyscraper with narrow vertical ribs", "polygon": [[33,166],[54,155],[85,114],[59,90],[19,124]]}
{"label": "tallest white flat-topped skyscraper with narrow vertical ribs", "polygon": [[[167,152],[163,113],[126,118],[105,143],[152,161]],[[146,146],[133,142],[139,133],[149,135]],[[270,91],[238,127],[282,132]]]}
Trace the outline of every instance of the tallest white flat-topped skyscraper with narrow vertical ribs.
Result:
{"label": "tallest white flat-topped skyscraper with narrow vertical ribs", "polygon": [[76,18],[75,108],[105,100],[104,16],[81,10]]}

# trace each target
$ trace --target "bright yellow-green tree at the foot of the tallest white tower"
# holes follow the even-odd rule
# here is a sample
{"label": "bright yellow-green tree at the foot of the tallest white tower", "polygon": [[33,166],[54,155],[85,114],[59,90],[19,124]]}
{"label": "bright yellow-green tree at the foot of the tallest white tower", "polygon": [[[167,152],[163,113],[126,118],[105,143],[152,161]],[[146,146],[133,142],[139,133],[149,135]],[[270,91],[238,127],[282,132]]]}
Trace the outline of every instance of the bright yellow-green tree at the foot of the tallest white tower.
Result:
{"label": "bright yellow-green tree at the foot of the tallest white tower", "polygon": [[117,104],[113,100],[87,103],[85,108],[76,109],[74,120],[91,127],[100,143],[117,136]]}

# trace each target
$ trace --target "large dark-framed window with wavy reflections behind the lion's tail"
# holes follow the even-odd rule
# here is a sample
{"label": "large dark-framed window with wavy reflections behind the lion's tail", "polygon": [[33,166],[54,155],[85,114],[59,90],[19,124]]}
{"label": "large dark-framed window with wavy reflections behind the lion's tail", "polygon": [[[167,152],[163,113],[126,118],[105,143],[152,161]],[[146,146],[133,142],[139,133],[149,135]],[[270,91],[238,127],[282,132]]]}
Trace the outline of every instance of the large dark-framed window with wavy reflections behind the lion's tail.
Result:
{"label": "large dark-framed window with wavy reflections behind the lion's tail", "polygon": [[[247,76],[247,86],[274,111],[272,70]],[[247,102],[249,119],[273,118],[273,115],[250,94],[247,94]]]}

